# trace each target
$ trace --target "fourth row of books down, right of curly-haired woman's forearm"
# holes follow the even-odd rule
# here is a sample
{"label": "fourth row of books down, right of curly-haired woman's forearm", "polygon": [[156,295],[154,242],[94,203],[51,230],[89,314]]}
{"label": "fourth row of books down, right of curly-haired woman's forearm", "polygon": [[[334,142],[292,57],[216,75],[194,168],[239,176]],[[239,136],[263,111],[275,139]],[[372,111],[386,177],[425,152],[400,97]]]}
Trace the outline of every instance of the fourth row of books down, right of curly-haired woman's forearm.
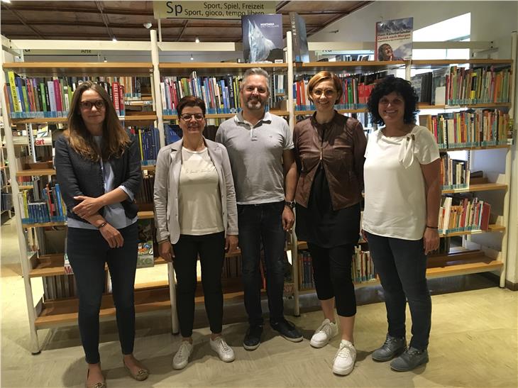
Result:
{"label": "fourth row of books down, right of curly-haired woman's forearm", "polygon": [[444,196],[439,210],[439,233],[487,231],[491,205],[471,193]]}

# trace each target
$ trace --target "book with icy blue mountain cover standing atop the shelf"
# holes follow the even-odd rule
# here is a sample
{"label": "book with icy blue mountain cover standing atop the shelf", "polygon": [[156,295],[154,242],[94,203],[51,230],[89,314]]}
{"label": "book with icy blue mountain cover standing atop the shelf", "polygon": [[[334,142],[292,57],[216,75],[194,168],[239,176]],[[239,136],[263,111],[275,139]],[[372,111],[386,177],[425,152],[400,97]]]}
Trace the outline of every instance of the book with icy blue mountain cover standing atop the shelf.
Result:
{"label": "book with icy blue mountain cover standing atop the shelf", "polygon": [[241,28],[246,62],[283,62],[282,15],[242,16]]}

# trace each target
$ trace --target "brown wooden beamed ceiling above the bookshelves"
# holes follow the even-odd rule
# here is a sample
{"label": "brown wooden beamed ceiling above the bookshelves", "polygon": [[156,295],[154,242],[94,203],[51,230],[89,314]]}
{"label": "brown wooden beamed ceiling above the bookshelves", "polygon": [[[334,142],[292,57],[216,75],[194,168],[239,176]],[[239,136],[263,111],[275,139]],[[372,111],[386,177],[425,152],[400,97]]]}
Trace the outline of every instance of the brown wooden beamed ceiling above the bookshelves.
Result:
{"label": "brown wooden beamed ceiling above the bookshelves", "polygon": [[[372,1],[277,1],[282,30],[290,12],[306,22],[307,35],[320,31]],[[149,40],[143,23],[153,18],[153,1],[16,1],[1,2],[1,34],[9,39]],[[162,19],[162,41],[241,42],[241,20]]]}

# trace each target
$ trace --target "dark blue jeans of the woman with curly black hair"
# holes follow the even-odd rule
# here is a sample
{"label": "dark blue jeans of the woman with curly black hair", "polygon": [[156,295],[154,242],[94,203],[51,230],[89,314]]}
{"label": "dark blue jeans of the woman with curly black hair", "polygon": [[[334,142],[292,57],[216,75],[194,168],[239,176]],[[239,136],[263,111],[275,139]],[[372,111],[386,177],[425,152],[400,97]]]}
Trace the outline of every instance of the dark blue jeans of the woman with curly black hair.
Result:
{"label": "dark blue jeans of the woman with curly black hair", "polygon": [[428,347],[431,328],[431,298],[426,284],[423,240],[402,240],[366,233],[370,256],[380,276],[387,308],[388,333],[404,337],[407,301],[412,316],[410,346]]}

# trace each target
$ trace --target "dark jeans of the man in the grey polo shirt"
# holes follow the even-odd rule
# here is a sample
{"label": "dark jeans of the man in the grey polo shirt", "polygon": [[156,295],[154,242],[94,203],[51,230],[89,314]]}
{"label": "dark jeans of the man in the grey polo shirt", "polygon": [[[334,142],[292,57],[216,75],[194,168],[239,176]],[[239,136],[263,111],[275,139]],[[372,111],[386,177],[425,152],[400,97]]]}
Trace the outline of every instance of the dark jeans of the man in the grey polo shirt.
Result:
{"label": "dark jeans of the man in the grey polo shirt", "polygon": [[245,308],[250,325],[263,324],[261,309],[261,242],[265,252],[266,293],[270,322],[284,319],[285,231],[282,230],[284,201],[238,205],[239,248],[241,248]]}

